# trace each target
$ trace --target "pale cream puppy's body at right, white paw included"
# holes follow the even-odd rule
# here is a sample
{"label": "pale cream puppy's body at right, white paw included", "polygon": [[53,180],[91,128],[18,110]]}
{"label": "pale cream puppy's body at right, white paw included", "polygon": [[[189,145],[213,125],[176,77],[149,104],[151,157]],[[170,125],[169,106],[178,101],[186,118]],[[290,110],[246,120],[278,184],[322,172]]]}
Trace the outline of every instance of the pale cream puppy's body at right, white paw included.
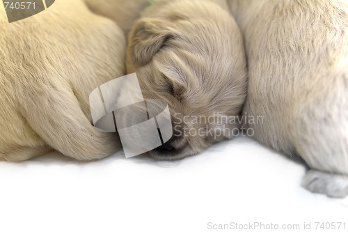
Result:
{"label": "pale cream puppy's body at right, white paw included", "polygon": [[303,186],[348,194],[348,3],[230,0],[248,57],[244,111],[262,144],[300,155]]}

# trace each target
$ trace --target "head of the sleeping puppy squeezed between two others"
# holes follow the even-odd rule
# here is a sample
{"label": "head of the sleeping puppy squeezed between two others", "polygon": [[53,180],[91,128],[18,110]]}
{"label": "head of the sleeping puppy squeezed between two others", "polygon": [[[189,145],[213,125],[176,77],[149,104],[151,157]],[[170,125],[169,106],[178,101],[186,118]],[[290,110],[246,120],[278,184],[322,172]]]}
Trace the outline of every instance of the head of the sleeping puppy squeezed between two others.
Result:
{"label": "head of the sleeping puppy squeezed between two others", "polygon": [[195,155],[238,132],[232,120],[246,98],[246,57],[223,8],[226,1],[152,1],[129,35],[127,72],[137,73],[144,98],[171,110],[173,137],[150,151],[156,159]]}

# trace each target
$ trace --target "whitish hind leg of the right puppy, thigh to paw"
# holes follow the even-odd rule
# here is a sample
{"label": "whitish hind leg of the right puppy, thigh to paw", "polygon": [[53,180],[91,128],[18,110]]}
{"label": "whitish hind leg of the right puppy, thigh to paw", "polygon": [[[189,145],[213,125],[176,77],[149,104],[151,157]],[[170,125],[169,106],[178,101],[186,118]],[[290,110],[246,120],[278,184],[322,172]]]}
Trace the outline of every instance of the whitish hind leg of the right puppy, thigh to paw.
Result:
{"label": "whitish hind leg of the right puppy, thigh to paw", "polygon": [[[340,83],[338,83],[340,85]],[[345,86],[341,83],[342,86]],[[332,87],[332,86],[331,86]],[[312,169],[302,186],[332,197],[348,195],[348,110],[341,88],[320,88],[311,100],[294,107],[293,144]]]}

